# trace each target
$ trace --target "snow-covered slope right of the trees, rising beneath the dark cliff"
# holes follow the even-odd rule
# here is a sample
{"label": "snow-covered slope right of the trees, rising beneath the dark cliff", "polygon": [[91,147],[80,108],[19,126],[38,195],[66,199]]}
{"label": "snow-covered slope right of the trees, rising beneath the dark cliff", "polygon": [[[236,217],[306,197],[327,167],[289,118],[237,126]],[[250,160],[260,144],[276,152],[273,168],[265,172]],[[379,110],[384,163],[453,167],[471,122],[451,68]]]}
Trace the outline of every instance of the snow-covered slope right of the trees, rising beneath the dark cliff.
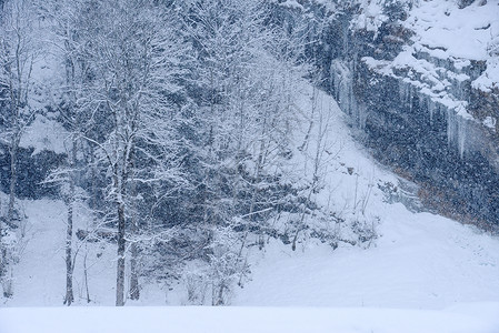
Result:
{"label": "snow-covered slope right of the trees, rising beneath the dark cliff", "polygon": [[[387,203],[377,185],[397,180],[355,143],[336,102],[323,93],[319,100],[331,112],[331,144],[341,147],[328,169],[329,199],[347,216],[356,198],[365,195],[361,191],[375,184],[365,214],[379,218],[379,239],[367,250],[340,243],[333,251],[309,241],[292,252],[271,243],[256,255],[261,259],[252,268],[252,282],[233,303],[443,309],[498,302],[499,240],[470,225]],[[351,175],[347,167],[355,167]],[[356,182],[361,193],[356,194]]]}

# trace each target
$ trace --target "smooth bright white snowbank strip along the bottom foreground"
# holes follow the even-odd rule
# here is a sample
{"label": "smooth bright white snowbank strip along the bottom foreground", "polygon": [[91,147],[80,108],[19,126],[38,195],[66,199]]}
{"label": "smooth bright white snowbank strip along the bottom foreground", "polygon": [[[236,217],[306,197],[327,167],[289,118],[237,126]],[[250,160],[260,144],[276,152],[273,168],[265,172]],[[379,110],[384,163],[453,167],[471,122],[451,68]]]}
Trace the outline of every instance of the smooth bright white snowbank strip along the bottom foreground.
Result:
{"label": "smooth bright white snowbank strip along the bottom foreground", "polygon": [[2,333],[499,332],[499,303],[446,311],[313,307],[2,309]]}

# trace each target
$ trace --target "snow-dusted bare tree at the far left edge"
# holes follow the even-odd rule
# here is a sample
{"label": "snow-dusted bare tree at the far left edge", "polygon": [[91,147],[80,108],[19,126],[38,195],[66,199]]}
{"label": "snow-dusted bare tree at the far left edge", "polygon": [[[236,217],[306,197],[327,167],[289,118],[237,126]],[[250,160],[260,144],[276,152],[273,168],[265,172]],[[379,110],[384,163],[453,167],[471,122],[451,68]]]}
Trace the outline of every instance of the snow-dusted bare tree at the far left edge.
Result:
{"label": "snow-dusted bare tree at the far left edge", "polygon": [[[19,226],[20,219],[14,214],[18,151],[21,137],[37,112],[31,105],[30,93],[33,85],[33,63],[39,56],[39,50],[33,38],[36,17],[29,0],[4,2],[0,20],[0,90],[7,105],[3,109],[6,113],[2,112],[1,117],[3,123],[8,124],[1,139],[7,142],[10,154],[9,203],[4,221],[8,226],[16,229]],[[0,274],[4,272],[8,260],[6,251],[1,252],[3,269],[0,269]],[[7,290],[9,292],[6,292],[6,296],[10,296],[11,287]]]}

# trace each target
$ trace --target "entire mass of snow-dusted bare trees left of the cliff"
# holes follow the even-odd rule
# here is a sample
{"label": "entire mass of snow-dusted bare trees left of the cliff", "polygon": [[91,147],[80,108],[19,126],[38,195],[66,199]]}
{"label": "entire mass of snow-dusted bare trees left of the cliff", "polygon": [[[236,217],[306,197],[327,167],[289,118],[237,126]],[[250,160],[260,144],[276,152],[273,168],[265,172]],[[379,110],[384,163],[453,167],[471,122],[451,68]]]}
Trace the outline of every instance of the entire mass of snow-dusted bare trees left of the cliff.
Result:
{"label": "entire mass of snow-dusted bare trees left of the cliff", "polygon": [[[96,239],[117,245],[117,305],[139,299],[146,275],[183,276],[192,302],[211,291],[211,303],[224,304],[230,289],[246,279],[250,246],[263,248],[269,236],[296,246],[307,229],[305,216],[316,209],[311,200],[325,149],[319,142],[312,183],[297,185],[286,165],[293,154],[292,94],[305,73],[303,53],[300,36],[293,36],[299,30],[272,24],[269,6],[262,0],[3,4],[0,92],[11,186],[1,225],[10,232],[18,223],[20,137],[37,113],[50,111],[67,131],[64,163],[42,184],[57,184],[67,206],[64,304],[74,302],[81,244]],[[48,57],[57,74],[40,107],[31,102],[38,84],[32,69]],[[77,232],[79,204],[92,221]],[[298,216],[290,234],[272,229],[285,212]],[[1,239],[0,248],[6,286],[11,254]],[[204,264],[179,273],[193,260]]]}

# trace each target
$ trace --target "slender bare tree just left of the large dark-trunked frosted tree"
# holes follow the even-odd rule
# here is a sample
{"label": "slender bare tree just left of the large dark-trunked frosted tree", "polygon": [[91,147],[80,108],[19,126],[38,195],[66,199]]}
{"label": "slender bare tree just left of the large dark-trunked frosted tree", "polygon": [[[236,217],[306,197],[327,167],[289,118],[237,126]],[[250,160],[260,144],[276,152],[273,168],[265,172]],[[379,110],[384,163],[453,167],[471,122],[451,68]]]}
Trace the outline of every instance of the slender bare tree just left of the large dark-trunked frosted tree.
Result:
{"label": "slender bare tree just left of the large dark-trunked frosted tree", "polygon": [[[84,57],[84,43],[88,41],[84,33],[88,22],[84,21],[83,11],[87,10],[86,1],[51,0],[39,3],[40,12],[51,24],[53,52],[61,64],[62,78],[60,85],[54,89],[59,92],[59,100],[54,107],[61,114],[68,137],[66,147],[66,167],[53,171],[47,182],[61,184],[61,192],[67,205],[67,234],[66,234],[66,296],[68,306],[74,301],[72,275],[77,253],[73,253],[73,221],[77,203],[76,189],[79,181],[78,147],[80,139],[92,124],[89,105],[84,97],[88,92],[89,63]],[[83,101],[83,102],[80,102]]]}

